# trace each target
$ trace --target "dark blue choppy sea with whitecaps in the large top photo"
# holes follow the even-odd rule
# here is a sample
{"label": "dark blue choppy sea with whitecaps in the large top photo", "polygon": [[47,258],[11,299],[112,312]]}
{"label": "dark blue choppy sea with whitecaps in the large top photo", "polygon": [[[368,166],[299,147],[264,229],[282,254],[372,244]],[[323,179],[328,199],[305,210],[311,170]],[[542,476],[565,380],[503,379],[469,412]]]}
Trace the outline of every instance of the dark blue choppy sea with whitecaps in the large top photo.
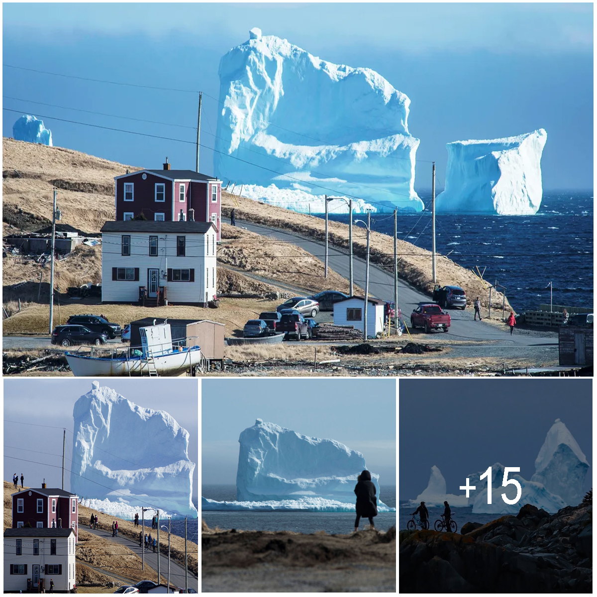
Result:
{"label": "dark blue choppy sea with whitecaps in the large top photo", "polygon": [[[419,192],[430,205],[431,193]],[[429,208],[430,209],[430,208]],[[348,221],[348,216],[330,214]],[[371,216],[393,235],[393,216]],[[506,287],[517,312],[549,304],[593,306],[593,192],[544,192],[534,216],[436,215],[436,250],[485,280]],[[431,250],[431,212],[398,215],[398,238]]]}

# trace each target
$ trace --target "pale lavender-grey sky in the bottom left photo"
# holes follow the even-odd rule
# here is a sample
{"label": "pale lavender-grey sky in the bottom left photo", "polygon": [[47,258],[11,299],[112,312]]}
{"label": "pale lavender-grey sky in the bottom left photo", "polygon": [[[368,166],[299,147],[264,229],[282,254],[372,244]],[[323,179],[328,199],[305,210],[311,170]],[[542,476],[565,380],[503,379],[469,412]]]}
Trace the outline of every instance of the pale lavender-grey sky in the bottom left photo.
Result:
{"label": "pale lavender-grey sky in the bottom left photo", "polygon": [[[41,487],[44,478],[48,487],[61,487],[62,438],[63,427],[66,427],[64,489],[70,490],[73,407],[80,396],[91,390],[92,381],[81,378],[4,378],[5,481],[11,481],[14,472],[19,477],[22,472],[24,484],[30,487]],[[141,407],[165,410],[173,416],[189,432],[189,458],[198,463],[197,380],[100,378],[99,381],[101,387],[110,387]],[[193,476],[198,479],[197,467]],[[197,489],[195,481],[193,499],[197,497]]]}

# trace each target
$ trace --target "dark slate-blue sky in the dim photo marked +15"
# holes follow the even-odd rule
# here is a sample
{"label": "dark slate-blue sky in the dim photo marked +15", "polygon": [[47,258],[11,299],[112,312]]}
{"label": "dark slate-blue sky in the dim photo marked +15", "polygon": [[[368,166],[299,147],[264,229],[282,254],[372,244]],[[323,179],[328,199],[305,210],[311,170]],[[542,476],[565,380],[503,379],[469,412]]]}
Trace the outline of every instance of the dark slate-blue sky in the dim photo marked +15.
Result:
{"label": "dark slate-blue sky in the dim photo marked +15", "polygon": [[[435,464],[448,493],[499,462],[530,479],[556,418],[593,464],[592,380],[570,378],[405,380],[399,383],[399,499],[429,482]],[[592,485],[590,468],[584,483]]]}

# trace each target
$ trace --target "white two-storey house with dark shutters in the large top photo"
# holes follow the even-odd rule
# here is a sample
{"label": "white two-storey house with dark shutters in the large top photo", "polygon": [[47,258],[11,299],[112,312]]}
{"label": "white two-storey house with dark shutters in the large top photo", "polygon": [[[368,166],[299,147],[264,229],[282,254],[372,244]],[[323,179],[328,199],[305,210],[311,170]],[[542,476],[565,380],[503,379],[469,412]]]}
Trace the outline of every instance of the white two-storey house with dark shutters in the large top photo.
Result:
{"label": "white two-storey house with dark shutters in the large top photo", "polygon": [[126,220],[101,227],[101,300],[134,303],[140,288],[168,303],[205,306],[216,295],[217,230],[211,222]]}

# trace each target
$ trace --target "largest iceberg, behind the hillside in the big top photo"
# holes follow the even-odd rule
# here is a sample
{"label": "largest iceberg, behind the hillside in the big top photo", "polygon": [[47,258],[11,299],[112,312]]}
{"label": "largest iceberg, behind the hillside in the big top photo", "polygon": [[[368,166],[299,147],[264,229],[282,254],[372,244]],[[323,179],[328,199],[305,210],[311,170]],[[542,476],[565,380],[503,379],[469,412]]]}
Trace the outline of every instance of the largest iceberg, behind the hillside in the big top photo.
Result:
{"label": "largest iceberg, behind the hillside in the big top photo", "polygon": [[220,178],[423,209],[410,100],[374,70],[321,60],[253,29],[222,57],[219,75]]}

